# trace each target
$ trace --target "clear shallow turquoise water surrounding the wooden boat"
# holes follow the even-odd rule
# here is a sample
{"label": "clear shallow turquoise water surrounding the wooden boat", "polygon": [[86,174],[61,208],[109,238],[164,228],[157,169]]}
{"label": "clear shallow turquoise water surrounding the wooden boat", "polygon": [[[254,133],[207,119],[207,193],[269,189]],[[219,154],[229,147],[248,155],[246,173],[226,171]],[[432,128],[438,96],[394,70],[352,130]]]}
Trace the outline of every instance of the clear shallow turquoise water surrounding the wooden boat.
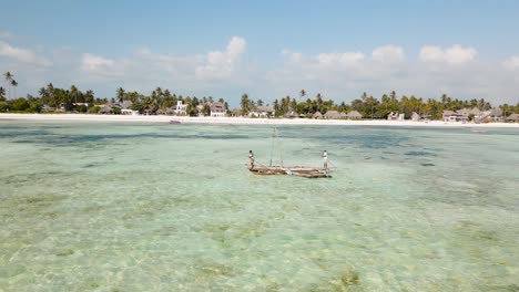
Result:
{"label": "clear shallow turquoise water surrounding the wooden boat", "polygon": [[0,291],[519,290],[519,129],[278,129],[0,122]]}

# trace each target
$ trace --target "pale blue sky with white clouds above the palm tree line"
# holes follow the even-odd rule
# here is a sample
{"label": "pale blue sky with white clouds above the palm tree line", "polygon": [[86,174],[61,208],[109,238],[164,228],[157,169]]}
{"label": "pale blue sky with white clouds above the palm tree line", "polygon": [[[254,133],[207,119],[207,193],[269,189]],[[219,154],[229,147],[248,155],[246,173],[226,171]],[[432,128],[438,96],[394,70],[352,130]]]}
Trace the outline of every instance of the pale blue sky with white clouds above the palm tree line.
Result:
{"label": "pale blue sky with white clouds above the palm tree line", "polygon": [[[364,92],[519,103],[519,1],[6,1],[17,93],[118,87],[272,102]],[[3,80],[0,86],[7,87]]]}

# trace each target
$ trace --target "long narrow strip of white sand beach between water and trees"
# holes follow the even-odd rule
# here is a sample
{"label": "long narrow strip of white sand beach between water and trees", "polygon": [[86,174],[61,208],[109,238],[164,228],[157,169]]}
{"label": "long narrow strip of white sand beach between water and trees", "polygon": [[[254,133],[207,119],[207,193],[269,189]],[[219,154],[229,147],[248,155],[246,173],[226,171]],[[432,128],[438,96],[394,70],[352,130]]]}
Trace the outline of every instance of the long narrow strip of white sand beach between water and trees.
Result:
{"label": "long narrow strip of white sand beach between water and trees", "polygon": [[309,118],[248,118],[248,117],[190,117],[190,116],[132,116],[90,114],[0,114],[0,121],[48,121],[48,122],[114,122],[114,123],[170,123],[181,124],[237,124],[237,125],[335,125],[335,126],[406,126],[406,127],[484,127],[519,128],[519,123],[449,123],[442,121],[413,122],[386,119],[309,119]]}

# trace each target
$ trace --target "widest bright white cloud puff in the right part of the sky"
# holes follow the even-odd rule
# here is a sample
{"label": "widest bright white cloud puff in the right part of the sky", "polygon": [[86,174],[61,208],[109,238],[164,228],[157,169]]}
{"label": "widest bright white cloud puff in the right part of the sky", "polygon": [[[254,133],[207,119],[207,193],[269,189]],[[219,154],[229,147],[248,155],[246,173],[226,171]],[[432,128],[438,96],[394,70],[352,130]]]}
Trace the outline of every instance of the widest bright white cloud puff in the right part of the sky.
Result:
{"label": "widest bright white cloud puff in the right part of the sky", "polygon": [[462,48],[459,44],[450,48],[441,49],[436,45],[423,46],[419,54],[419,60],[426,63],[447,63],[447,64],[464,64],[474,61],[478,52],[474,48]]}

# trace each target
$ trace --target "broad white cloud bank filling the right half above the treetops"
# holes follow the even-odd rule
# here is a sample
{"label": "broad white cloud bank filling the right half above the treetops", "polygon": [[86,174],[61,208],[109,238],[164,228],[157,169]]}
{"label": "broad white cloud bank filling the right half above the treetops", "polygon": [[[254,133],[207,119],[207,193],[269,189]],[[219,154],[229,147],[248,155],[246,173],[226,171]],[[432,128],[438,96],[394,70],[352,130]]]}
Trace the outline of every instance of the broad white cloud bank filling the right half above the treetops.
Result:
{"label": "broad white cloud bank filling the right half above the treetops", "polygon": [[[320,92],[337,100],[352,100],[363,92],[380,96],[395,90],[399,94],[438,97],[446,93],[457,98],[481,98],[517,103],[519,83],[499,63],[478,62],[472,48],[424,46],[418,60],[407,60],[404,49],[384,45],[367,52],[319,53],[307,55],[283,51],[283,66],[266,73],[266,84],[275,96],[297,96],[305,88],[309,96]],[[503,65],[519,70],[519,58]],[[513,101],[516,100],[516,101]]]}

